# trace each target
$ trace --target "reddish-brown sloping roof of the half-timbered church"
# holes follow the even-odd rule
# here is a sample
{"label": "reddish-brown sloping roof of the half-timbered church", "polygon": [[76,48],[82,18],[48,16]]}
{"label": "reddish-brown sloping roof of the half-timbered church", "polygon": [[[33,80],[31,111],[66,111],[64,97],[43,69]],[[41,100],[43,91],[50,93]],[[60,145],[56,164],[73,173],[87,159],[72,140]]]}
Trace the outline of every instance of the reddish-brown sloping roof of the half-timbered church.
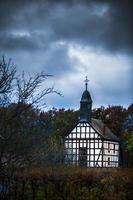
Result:
{"label": "reddish-brown sloping roof of the half-timbered church", "polygon": [[113,140],[113,141],[120,141],[120,139],[112,133],[112,131],[101,121],[98,119],[91,119],[92,127],[105,139]]}

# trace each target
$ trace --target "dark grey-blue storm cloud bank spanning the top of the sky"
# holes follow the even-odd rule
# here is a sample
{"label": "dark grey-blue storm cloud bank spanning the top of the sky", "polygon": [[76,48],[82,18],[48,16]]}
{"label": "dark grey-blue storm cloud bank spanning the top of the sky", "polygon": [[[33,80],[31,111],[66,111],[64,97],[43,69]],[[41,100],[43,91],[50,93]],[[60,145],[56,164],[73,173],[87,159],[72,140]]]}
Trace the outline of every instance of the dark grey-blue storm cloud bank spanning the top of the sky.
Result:
{"label": "dark grey-blue storm cloud bank spanning the top of the sky", "polygon": [[[10,48],[13,49],[15,46],[17,49],[40,48],[42,37],[39,34],[32,36],[38,30],[43,34],[44,43],[78,41],[84,45],[132,53],[132,10],[133,3],[123,0],[1,0],[0,27],[6,32],[21,28],[30,32],[31,38],[11,38],[10,34],[7,38],[6,35],[5,40],[11,40]],[[6,42],[2,45],[8,49]]]}

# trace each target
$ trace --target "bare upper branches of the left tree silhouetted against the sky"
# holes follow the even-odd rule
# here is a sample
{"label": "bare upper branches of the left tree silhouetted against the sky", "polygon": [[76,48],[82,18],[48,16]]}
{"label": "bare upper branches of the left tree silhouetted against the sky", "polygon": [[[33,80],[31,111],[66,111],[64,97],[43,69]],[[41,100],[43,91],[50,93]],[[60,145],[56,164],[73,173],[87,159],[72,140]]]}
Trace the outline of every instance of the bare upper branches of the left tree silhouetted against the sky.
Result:
{"label": "bare upper branches of the left tree silhouetted against the sky", "polygon": [[6,62],[5,58],[2,57],[0,60],[0,106],[4,106],[5,98],[11,93],[13,93],[14,98],[12,99],[10,96],[10,103],[32,105],[41,104],[44,97],[51,93],[61,96],[61,93],[53,86],[43,87],[44,81],[51,76],[43,72],[34,76],[27,76],[24,72],[18,75],[11,59]]}

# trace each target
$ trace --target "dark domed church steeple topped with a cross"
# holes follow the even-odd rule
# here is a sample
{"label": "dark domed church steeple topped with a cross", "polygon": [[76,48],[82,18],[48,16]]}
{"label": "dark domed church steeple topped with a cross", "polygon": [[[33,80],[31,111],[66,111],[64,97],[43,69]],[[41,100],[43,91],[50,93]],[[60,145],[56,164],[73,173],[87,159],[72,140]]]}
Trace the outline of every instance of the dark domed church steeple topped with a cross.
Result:
{"label": "dark domed church steeple topped with a cross", "polygon": [[80,122],[91,122],[92,99],[87,88],[89,82],[87,76],[84,82],[85,82],[85,91],[83,92],[80,101]]}

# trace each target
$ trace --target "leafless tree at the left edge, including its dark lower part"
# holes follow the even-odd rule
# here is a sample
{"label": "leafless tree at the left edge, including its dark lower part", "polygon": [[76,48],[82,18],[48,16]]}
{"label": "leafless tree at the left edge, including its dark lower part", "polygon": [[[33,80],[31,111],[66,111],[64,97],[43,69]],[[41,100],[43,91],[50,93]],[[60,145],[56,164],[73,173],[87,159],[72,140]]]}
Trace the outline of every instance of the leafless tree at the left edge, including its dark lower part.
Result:
{"label": "leafless tree at the left edge, including its dark lower part", "polygon": [[11,60],[6,62],[4,57],[0,60],[0,168],[8,166],[8,163],[19,163],[27,154],[24,145],[18,152],[16,144],[25,140],[22,133],[31,134],[31,127],[24,119],[30,115],[32,107],[42,105],[42,102],[46,105],[44,98],[48,94],[61,95],[53,86],[44,87],[48,77],[51,75],[43,72],[35,76],[27,76],[24,72],[17,75]]}

